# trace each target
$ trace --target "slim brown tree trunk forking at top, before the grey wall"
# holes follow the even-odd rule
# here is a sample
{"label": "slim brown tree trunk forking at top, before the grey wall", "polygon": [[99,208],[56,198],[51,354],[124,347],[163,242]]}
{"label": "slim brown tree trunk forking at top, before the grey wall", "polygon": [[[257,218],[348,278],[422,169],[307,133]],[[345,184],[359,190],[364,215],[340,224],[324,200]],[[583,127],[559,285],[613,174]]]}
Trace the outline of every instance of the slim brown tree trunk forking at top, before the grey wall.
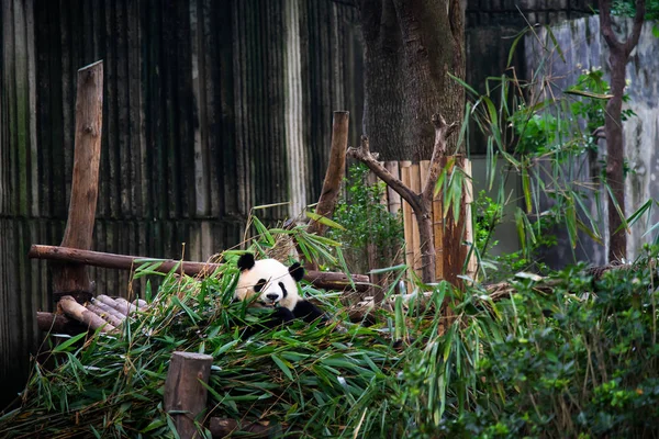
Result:
{"label": "slim brown tree trunk forking at top, before the grey wall", "polygon": [[[608,260],[618,260],[627,255],[627,235],[623,226],[625,214],[625,145],[623,142],[623,93],[625,90],[625,68],[629,54],[638,44],[645,16],[645,0],[636,0],[636,14],[632,35],[622,42],[613,32],[611,22],[612,0],[599,0],[600,32],[608,46],[611,70],[611,94],[606,103],[604,132],[606,134],[606,182],[613,198],[608,198]],[[621,213],[616,209],[619,206]]]}

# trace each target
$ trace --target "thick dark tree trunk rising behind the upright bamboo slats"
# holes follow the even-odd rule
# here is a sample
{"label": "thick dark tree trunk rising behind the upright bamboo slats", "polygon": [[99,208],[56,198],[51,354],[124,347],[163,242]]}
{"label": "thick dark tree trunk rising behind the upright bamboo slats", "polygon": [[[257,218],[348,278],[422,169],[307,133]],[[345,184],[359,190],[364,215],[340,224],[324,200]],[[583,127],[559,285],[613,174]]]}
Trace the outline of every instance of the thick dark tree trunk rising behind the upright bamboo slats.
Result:
{"label": "thick dark tree trunk rising behind the upright bamboo slats", "polygon": [[[357,0],[365,42],[364,131],[380,160],[429,160],[432,116],[461,120],[465,0]],[[456,137],[448,151],[455,151]]]}

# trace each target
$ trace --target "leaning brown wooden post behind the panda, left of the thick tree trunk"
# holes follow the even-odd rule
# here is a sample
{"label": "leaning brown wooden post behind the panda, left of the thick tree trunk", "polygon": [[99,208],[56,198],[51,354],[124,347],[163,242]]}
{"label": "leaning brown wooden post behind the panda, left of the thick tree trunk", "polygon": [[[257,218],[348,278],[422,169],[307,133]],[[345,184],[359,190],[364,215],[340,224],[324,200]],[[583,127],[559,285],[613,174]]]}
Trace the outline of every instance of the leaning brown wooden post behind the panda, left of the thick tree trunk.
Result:
{"label": "leaning brown wooden post behind the panda, left of the thick tree trunk", "polygon": [[[348,150],[348,125],[349,115],[347,111],[335,111],[332,123],[332,146],[330,148],[330,164],[323,181],[323,190],[316,205],[315,213],[325,217],[332,217],[340,182],[346,175],[346,153]],[[309,224],[309,233],[323,235],[326,226],[317,221]]]}

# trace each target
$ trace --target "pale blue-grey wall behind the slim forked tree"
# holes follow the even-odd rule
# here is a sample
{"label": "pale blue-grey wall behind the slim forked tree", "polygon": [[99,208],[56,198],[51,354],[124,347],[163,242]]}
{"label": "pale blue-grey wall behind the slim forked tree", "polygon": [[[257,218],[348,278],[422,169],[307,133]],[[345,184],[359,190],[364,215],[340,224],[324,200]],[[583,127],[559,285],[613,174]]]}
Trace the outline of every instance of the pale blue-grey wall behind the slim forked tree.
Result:
{"label": "pale blue-grey wall behind the slim forked tree", "polygon": [[[630,30],[629,20],[621,20],[618,33],[627,35]],[[632,53],[629,64],[626,68],[627,79],[630,85],[627,93],[630,102],[624,108],[629,108],[637,113],[637,117],[632,117],[624,124],[625,136],[625,156],[633,172],[626,180],[626,215],[639,209],[649,199],[659,198],[659,40],[652,35],[652,23],[644,25],[643,33],[637,48]],[[551,59],[547,63],[550,66],[547,75],[550,76],[552,90],[557,95],[561,95],[562,90],[573,85],[581,74],[582,69],[602,67],[605,72],[605,79],[608,76],[607,48],[605,42],[600,36],[599,16],[591,16],[570,21],[552,27],[558,45],[565,54],[563,61],[558,52],[554,53]],[[540,30],[540,40],[544,40],[546,32]],[[624,36],[623,36],[624,37]],[[539,47],[533,36],[527,37],[526,60],[527,69],[537,69],[539,57],[537,56]],[[592,181],[592,177],[600,172],[600,160],[605,159],[606,144],[600,142],[600,150],[594,155],[583,155],[574,164],[574,169],[579,169],[580,181]],[[595,203],[595,196],[601,196],[600,209]],[[607,211],[606,195],[603,188],[589,192],[588,204],[591,207],[591,214],[600,219],[599,225],[604,235],[604,245],[599,245],[588,236],[580,235],[580,244],[577,248],[577,257],[580,260],[590,261],[593,264],[606,263],[607,254]],[[632,234],[628,235],[627,258],[634,259],[639,254],[641,246],[654,239],[656,234],[644,236],[649,226],[659,222],[659,209],[652,209],[651,215],[645,217],[645,221],[637,223],[632,227]],[[563,266],[573,260],[567,236],[563,230],[557,230],[561,237],[562,245],[547,255],[550,261],[557,266]]]}

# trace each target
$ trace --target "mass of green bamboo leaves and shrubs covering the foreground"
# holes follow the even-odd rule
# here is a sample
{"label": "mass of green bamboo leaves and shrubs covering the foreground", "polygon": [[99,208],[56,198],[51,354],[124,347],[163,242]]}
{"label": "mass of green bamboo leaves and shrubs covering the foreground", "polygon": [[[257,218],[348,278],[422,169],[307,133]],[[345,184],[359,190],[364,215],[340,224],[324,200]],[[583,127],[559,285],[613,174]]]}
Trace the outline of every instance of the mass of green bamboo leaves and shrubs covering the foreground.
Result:
{"label": "mass of green bamboo leaves and shrubs covering the foreground", "polygon": [[35,363],[0,436],[175,437],[163,386],[171,352],[185,350],[214,358],[210,416],[268,420],[277,437],[654,437],[658,254],[647,250],[597,281],[583,267],[540,283],[516,278],[496,301],[440,282],[424,303],[379,311],[371,328],[304,285],[332,323],[248,340],[238,330],[260,313],[232,303],[235,267],[201,281],[170,273],[120,336],[69,338],[49,367]]}

